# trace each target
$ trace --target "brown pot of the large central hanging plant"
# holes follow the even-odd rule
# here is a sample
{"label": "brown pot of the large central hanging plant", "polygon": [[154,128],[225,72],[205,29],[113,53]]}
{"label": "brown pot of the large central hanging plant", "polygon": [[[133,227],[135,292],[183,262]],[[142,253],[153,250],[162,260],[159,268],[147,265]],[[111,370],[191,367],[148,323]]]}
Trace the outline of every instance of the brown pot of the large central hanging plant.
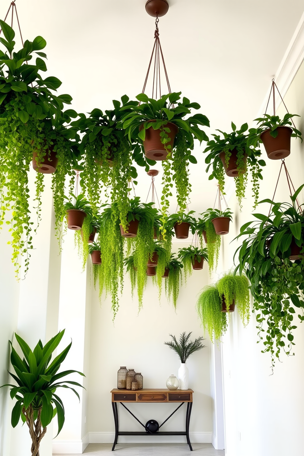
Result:
{"label": "brown pot of the large central hanging plant", "polygon": [[[156,122],[156,120],[151,120],[151,122]],[[173,144],[175,136],[178,132],[178,128],[175,124],[168,122],[165,127],[170,128],[170,133],[168,133],[170,142],[167,143],[171,146],[170,151],[173,149]],[[143,129],[143,125],[140,125],[139,131]],[[153,127],[149,127],[146,130],[146,136],[144,140],[144,155],[150,160],[166,160],[167,151],[165,150],[165,145],[161,142],[160,137],[161,130],[154,130]]]}

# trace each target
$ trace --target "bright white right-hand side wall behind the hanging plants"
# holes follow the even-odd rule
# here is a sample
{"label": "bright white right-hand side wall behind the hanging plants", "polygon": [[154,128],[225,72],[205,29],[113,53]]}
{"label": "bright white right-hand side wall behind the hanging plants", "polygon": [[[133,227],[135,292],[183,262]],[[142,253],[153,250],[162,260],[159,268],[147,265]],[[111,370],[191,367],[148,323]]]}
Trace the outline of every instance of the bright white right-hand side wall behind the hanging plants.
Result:
{"label": "bright white right-hand side wall behind the hanging plants", "polygon": [[[304,131],[304,65],[300,67],[284,101],[291,113],[301,115],[294,122]],[[263,95],[263,94],[262,94]],[[261,101],[263,96],[261,96]],[[283,105],[277,112],[285,114]],[[244,121],[247,119],[244,119]],[[291,154],[285,159],[289,174],[297,189],[304,182],[304,145],[292,138]],[[281,161],[267,158],[263,170],[260,200],[273,197]],[[282,171],[283,172],[283,171]],[[303,202],[303,193],[300,202]],[[275,201],[289,200],[286,177],[281,175]],[[247,192],[247,201],[240,213],[236,201],[229,202],[234,212],[231,232],[224,238],[222,270],[232,267],[237,243],[230,242],[243,223],[252,220],[252,198]],[[260,205],[255,212],[268,214],[269,205]],[[296,312],[297,314],[298,312]],[[254,315],[247,328],[243,328],[237,312],[232,314],[227,334],[222,340],[224,400],[226,422],[227,456],[302,456],[304,427],[303,357],[304,326],[298,321],[294,330],[294,357],[284,353],[276,362],[271,375],[271,360],[268,353],[261,353],[262,343],[258,335]]]}

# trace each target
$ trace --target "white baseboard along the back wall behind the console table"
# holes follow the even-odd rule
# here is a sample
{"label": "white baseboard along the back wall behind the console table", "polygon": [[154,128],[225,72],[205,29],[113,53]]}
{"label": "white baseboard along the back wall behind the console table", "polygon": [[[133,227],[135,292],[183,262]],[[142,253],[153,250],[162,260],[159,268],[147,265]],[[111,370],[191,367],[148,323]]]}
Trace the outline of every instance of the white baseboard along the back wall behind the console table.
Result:
{"label": "white baseboard along the back wall behind the console table", "polygon": [[[211,443],[212,432],[190,431],[191,443]],[[89,432],[90,443],[113,443],[114,432]],[[119,435],[118,443],[185,443],[185,435],[140,436]]]}

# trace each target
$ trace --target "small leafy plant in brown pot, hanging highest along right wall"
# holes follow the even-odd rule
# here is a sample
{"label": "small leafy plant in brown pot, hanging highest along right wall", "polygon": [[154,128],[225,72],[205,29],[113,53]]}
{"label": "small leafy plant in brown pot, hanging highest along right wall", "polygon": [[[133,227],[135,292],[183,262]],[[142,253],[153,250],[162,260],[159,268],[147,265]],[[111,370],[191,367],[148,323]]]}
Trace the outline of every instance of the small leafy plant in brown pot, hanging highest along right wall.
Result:
{"label": "small leafy plant in brown pot, hanging highest along right wall", "polygon": [[301,132],[297,130],[290,119],[298,114],[285,114],[281,120],[278,115],[265,114],[264,117],[255,119],[257,128],[250,128],[247,144],[259,147],[261,142],[265,147],[268,158],[280,160],[290,154],[290,138],[300,138]]}

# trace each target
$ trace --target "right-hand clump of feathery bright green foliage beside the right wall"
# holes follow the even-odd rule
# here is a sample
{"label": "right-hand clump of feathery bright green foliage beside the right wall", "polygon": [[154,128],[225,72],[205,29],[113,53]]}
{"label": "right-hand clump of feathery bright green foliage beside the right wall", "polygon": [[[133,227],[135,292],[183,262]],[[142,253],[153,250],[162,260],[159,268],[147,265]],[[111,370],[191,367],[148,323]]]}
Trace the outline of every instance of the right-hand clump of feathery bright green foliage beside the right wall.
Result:
{"label": "right-hand clump of feathery bright green foliage beside the right wall", "polygon": [[224,296],[227,312],[232,301],[235,301],[243,325],[246,326],[250,316],[249,282],[246,275],[227,272],[216,282],[216,287],[219,295]]}

